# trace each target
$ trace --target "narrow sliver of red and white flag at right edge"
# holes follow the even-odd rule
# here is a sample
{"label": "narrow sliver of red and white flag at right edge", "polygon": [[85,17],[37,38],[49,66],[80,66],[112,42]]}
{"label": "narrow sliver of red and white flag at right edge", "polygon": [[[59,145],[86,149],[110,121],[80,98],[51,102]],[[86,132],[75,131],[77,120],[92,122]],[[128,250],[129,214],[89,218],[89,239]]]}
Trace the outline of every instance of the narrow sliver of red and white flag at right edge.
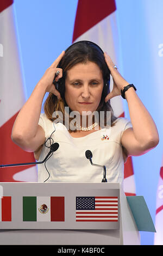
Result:
{"label": "narrow sliver of red and white flag at right edge", "polygon": [[156,193],[154,245],[163,245],[163,157],[160,168],[158,190]]}

